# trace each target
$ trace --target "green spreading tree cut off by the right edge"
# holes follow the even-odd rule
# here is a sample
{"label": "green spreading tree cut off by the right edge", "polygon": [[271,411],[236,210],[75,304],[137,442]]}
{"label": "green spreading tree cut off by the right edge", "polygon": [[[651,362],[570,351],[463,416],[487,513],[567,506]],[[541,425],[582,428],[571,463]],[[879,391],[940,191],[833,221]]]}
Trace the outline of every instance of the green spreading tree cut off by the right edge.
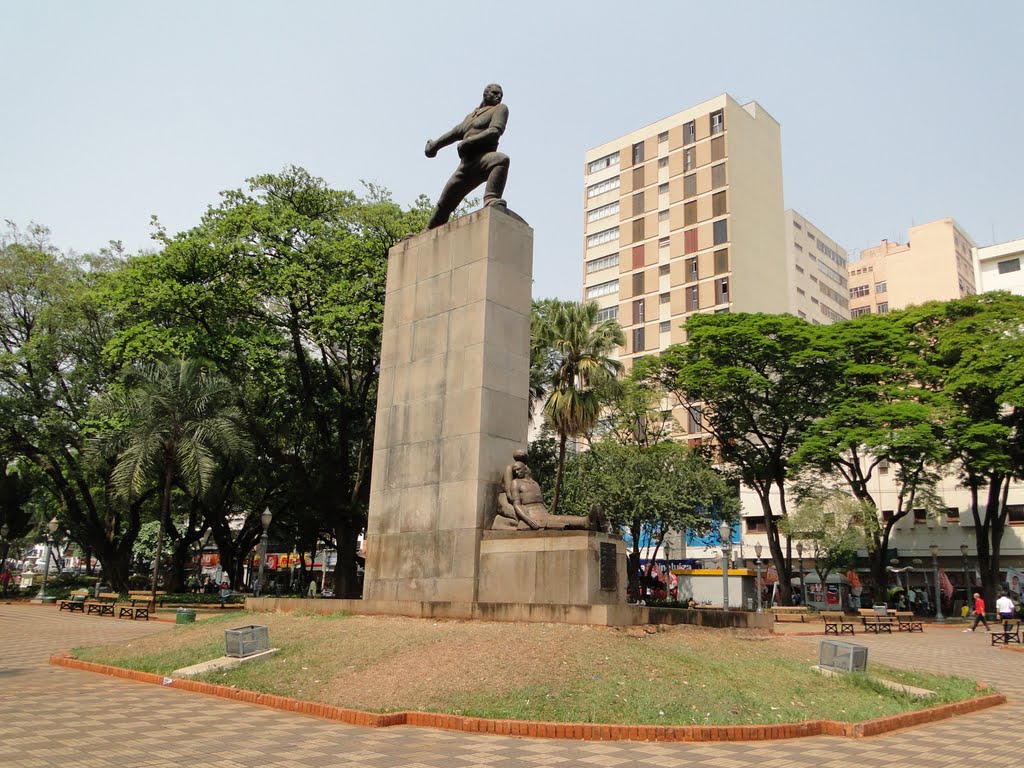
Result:
{"label": "green spreading tree cut off by the right edge", "polygon": [[942,409],[942,437],[971,494],[986,601],[1000,584],[1010,483],[1024,477],[1024,297],[993,292],[906,311],[921,379]]}

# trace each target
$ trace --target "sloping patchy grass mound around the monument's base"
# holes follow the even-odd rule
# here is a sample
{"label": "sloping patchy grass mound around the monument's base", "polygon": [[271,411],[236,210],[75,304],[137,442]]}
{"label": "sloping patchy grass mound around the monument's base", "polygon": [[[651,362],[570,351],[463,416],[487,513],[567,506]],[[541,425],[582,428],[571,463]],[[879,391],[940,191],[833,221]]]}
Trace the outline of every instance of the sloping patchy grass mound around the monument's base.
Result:
{"label": "sloping patchy grass mound around the monument's base", "polygon": [[813,672],[811,643],[690,627],[632,637],[564,625],[218,615],[75,655],[168,675],[222,655],[224,629],[248,624],[267,625],[281,651],[202,679],[375,712],[741,725],[867,720],[978,694],[973,680],[870,666],[872,676],[936,691],[919,699],[871,676]]}

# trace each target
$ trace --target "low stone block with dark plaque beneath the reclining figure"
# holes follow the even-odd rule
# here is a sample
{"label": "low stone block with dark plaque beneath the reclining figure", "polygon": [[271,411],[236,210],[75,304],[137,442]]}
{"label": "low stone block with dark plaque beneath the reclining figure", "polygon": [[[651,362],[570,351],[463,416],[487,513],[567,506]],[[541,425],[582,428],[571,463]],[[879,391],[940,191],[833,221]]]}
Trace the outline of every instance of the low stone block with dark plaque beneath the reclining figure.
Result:
{"label": "low stone block with dark plaque beneath the reclining figure", "polygon": [[545,605],[626,602],[626,544],[591,530],[485,530],[479,601]]}

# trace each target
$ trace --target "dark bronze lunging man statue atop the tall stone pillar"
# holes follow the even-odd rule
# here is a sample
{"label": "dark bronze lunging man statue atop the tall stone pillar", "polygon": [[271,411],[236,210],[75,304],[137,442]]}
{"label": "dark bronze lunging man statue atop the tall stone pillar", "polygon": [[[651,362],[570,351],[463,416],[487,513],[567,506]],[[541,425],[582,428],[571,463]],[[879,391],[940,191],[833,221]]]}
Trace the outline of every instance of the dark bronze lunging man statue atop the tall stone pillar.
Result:
{"label": "dark bronze lunging man statue atop the tall stone pillar", "polygon": [[502,87],[492,83],[483,89],[480,105],[459,125],[437,139],[428,139],[428,158],[449,144],[459,142],[459,167],[444,184],[437,207],[427,223],[428,229],[447,223],[455,209],[473,189],[487,183],[483,205],[505,205],[502,194],[509,175],[509,158],[498,152],[498,139],[509,122],[509,108],[502,103]]}

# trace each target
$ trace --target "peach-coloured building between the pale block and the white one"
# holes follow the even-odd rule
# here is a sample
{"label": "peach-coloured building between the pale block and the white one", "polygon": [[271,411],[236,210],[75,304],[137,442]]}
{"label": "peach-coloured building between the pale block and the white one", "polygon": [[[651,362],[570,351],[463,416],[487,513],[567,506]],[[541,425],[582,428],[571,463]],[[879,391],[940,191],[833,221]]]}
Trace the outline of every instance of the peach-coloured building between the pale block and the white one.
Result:
{"label": "peach-coloured building between the pale block and the white one", "polygon": [[975,293],[974,243],[951,218],[911,226],[906,243],[882,244],[849,264],[850,316],[884,314]]}

